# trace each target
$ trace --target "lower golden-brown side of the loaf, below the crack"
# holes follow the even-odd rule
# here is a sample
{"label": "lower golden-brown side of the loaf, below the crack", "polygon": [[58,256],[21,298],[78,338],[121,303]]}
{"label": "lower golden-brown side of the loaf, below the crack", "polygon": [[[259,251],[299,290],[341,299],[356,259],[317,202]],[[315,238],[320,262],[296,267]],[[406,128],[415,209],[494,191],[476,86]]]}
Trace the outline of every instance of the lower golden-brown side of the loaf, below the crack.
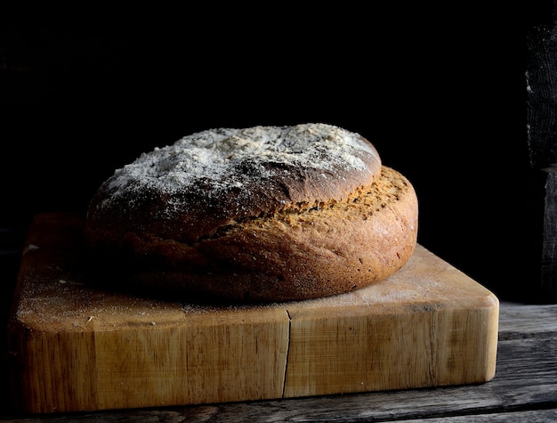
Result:
{"label": "lower golden-brown side of the loaf, below the crack", "polygon": [[343,202],[285,210],[222,227],[193,244],[85,226],[98,269],[153,293],[239,302],[328,297],[398,271],[414,252],[418,204],[408,179],[390,167]]}

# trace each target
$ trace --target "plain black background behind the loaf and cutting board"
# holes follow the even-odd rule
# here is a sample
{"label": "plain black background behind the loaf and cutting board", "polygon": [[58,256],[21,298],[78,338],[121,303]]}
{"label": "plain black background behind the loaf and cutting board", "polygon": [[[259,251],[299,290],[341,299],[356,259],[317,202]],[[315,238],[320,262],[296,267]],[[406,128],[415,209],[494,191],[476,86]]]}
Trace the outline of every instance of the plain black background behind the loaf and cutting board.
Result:
{"label": "plain black background behind the loaf and cutting board", "polygon": [[185,134],[326,122],[414,183],[425,248],[526,298],[532,11],[485,3],[1,14],[4,226],[85,214],[114,169]]}

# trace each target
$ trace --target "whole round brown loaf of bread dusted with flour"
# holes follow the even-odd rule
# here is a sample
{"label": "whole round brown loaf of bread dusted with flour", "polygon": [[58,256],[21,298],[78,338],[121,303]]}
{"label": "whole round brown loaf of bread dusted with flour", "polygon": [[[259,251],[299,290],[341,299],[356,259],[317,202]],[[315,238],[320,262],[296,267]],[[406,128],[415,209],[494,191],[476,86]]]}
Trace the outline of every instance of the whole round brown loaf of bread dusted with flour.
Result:
{"label": "whole round brown loaf of bread dusted with flour", "polygon": [[84,245],[93,268],[126,287],[302,300],[399,270],[416,247],[417,216],[412,184],[359,134],[219,128],[117,169],[93,196]]}

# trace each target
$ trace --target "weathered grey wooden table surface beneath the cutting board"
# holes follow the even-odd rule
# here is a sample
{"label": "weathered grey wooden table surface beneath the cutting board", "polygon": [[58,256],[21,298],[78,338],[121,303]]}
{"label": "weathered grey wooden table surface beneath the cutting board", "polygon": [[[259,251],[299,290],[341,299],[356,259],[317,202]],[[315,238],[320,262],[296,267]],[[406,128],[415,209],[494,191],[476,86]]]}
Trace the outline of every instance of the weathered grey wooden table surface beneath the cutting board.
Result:
{"label": "weathered grey wooden table surface beneath the cutting board", "polygon": [[[5,242],[0,250],[0,306],[4,318],[11,303],[18,251]],[[68,414],[26,415],[12,408],[3,322],[0,421],[557,421],[557,305],[500,300],[496,376],[480,385]]]}

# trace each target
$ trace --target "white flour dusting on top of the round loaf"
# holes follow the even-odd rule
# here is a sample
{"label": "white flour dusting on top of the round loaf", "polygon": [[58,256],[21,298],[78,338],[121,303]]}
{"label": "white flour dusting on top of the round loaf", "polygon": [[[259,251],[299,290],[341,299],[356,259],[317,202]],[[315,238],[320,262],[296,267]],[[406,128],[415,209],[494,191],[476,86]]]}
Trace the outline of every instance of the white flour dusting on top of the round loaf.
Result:
{"label": "white flour dusting on top of the round loaf", "polygon": [[[375,168],[367,165],[370,157]],[[172,194],[201,182],[211,195],[212,191],[244,187],[247,179],[270,180],[289,167],[319,170],[317,175],[327,179],[338,169],[376,173],[380,163],[371,143],[337,126],[218,128],[141,154],[115,172],[107,189],[114,197],[144,186]]]}

